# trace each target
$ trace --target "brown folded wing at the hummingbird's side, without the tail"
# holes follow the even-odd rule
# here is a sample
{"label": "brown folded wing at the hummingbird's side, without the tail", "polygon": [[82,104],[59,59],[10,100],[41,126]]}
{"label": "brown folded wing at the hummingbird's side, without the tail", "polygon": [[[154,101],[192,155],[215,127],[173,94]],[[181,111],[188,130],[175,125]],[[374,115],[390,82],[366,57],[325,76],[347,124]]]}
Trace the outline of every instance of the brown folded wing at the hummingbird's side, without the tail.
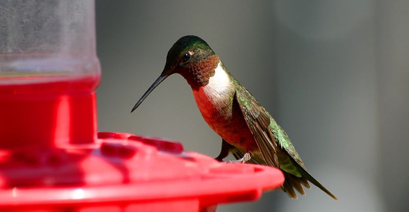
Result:
{"label": "brown folded wing at the hummingbird's side, without the tail", "polygon": [[269,130],[270,115],[242,86],[237,86],[234,99],[239,104],[265,163],[268,166],[279,168],[276,152],[277,143],[271,130]]}

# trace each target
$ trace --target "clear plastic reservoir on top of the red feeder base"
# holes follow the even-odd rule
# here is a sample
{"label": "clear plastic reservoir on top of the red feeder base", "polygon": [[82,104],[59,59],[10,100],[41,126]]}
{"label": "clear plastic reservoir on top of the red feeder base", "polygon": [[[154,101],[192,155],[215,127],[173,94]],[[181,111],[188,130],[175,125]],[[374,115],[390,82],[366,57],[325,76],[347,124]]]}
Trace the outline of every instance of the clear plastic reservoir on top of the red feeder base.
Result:
{"label": "clear plastic reservoir on top of the red feeder base", "polygon": [[0,1],[0,84],[100,76],[94,1]]}

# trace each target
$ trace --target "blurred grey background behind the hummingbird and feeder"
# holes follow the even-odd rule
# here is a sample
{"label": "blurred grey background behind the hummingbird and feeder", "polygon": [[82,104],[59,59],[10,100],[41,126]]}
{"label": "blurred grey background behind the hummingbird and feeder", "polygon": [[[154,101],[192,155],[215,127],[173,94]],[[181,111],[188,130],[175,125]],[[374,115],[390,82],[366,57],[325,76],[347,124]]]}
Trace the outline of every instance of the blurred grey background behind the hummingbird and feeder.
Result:
{"label": "blurred grey background behind the hummingbird and feeder", "polygon": [[[317,187],[218,211],[409,211],[409,2],[96,1],[99,131],[179,140],[217,156],[190,86],[160,75],[171,45],[198,35],[286,130]],[[243,182],[251,183],[251,182]]]}

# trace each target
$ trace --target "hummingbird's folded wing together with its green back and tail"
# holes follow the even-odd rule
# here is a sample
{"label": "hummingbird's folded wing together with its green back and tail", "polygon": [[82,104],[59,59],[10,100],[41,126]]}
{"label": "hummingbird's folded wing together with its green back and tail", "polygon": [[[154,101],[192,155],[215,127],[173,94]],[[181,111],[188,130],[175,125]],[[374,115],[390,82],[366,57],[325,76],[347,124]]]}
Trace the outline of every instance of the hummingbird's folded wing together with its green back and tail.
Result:
{"label": "hummingbird's folded wing together with its green back and tail", "polygon": [[[304,194],[300,184],[309,188],[306,181],[308,180],[337,200],[331,192],[307,172],[303,161],[292,146],[287,134],[248,90],[242,86],[237,86],[234,99],[240,106],[240,110],[256,140],[265,163],[269,166],[280,168],[287,173],[284,173],[286,181],[283,185],[283,190],[290,197],[297,198],[292,187],[301,194]],[[280,158],[280,163],[278,158]],[[260,163],[256,158],[254,160]]]}

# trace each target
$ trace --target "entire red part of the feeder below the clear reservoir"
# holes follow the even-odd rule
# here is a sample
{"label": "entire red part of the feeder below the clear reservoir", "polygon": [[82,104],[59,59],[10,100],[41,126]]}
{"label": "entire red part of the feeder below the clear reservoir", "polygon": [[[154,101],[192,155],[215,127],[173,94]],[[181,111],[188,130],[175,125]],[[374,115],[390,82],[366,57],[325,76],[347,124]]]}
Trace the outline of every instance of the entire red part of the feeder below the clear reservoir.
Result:
{"label": "entire red part of the feeder below the clear reservoir", "polygon": [[160,138],[97,138],[98,79],[0,83],[0,211],[214,211],[284,182]]}

